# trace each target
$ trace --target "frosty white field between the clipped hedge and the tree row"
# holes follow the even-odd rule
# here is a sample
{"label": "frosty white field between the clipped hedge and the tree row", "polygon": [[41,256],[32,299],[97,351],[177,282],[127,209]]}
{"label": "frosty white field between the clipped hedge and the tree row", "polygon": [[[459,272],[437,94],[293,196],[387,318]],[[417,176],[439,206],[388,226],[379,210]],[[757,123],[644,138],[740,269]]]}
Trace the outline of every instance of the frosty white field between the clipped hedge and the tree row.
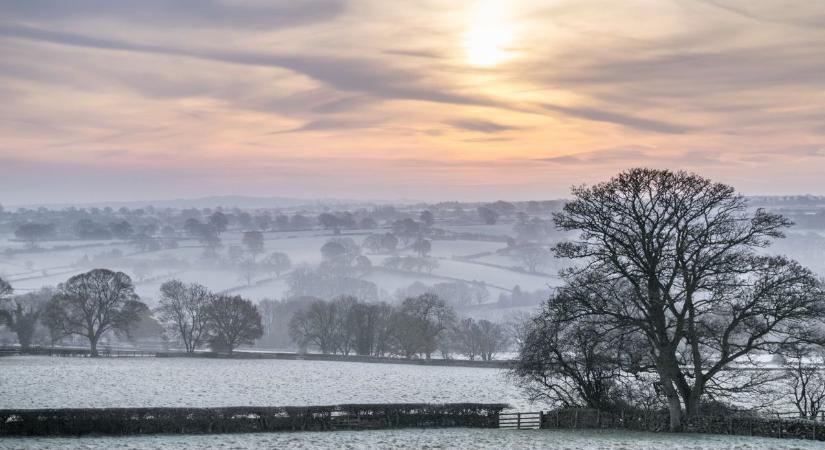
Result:
{"label": "frosty white field between the clipped hedge and the tree row", "polygon": [[7,408],[508,403],[532,410],[505,371],[331,361],[0,358]]}

